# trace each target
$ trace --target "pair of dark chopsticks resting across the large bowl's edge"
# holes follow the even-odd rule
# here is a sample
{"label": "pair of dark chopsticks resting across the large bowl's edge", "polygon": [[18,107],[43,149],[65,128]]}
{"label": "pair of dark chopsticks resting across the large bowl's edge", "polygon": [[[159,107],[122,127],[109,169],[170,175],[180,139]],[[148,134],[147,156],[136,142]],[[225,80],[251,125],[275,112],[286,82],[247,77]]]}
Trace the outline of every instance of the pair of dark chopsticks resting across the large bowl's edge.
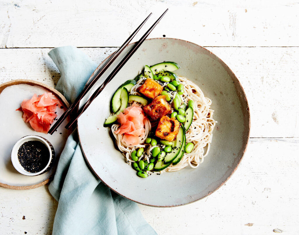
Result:
{"label": "pair of dark chopsticks resting across the large bowl's edge", "polygon": [[[113,71],[110,73],[110,75],[106,78],[106,80],[101,84],[96,91],[91,95],[91,97],[88,99],[88,101],[81,107],[81,109],[76,113],[74,118],[71,119],[71,121],[65,126],[66,129],[69,129],[75,121],[80,117],[80,115],[88,108],[88,106],[91,104],[91,102],[100,94],[100,92],[105,88],[105,86],[111,81],[112,78],[120,71],[120,69],[123,67],[123,65],[129,60],[129,58],[136,52],[136,50],[141,46],[141,44],[144,42],[144,40],[147,38],[147,36],[152,32],[152,30],[155,28],[155,26],[159,23],[161,18],[165,15],[166,11],[158,18],[158,20],[147,30],[147,32],[139,39],[137,43],[132,47],[132,49],[125,55],[125,57],[120,61],[120,63],[113,69]],[[96,81],[103,75],[103,73],[108,69],[108,67],[115,61],[115,59],[118,57],[118,55],[124,50],[126,46],[130,43],[132,38],[138,33],[138,31],[141,29],[141,27],[145,24],[145,22],[148,20],[148,18],[152,15],[152,13],[147,16],[147,18],[138,26],[138,28],[132,33],[132,35],[129,36],[129,38],[121,45],[121,47],[108,59],[106,64],[98,71],[98,73],[94,76],[94,79],[90,81],[83,91],[78,95],[76,100],[71,104],[71,106],[61,115],[61,117],[52,125],[51,129],[48,131],[49,134],[53,134],[58,126],[67,118],[67,116],[73,112],[79,105],[81,99],[84,95],[87,94],[87,92],[91,89],[91,87],[96,83]],[[92,77],[93,75],[91,75]]]}

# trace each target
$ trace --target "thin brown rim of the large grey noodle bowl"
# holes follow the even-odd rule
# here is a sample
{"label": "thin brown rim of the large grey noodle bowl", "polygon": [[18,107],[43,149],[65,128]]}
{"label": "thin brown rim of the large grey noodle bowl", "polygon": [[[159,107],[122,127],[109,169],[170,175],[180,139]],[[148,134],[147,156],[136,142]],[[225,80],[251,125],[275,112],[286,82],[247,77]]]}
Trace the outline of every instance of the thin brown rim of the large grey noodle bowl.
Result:
{"label": "thin brown rim of the large grey noodle bowl", "polygon": [[[123,194],[115,191],[113,188],[111,188],[107,183],[105,183],[101,177],[94,171],[94,169],[91,167],[87,157],[86,157],[86,154],[83,150],[83,147],[82,147],[82,144],[81,144],[81,139],[80,139],[80,135],[79,135],[79,126],[78,126],[78,122],[77,122],[77,134],[78,134],[78,139],[79,139],[79,143],[80,143],[80,147],[81,147],[81,150],[82,150],[82,153],[83,153],[83,156],[85,158],[85,161],[86,163],[89,165],[89,167],[91,168],[92,172],[101,180],[102,183],[104,183],[107,187],[109,187],[112,191],[114,191],[115,193],[121,195],[122,197],[125,197],[133,202],[137,202],[139,204],[142,204],[142,205],[147,205],[147,206],[151,206],[151,207],[161,207],[161,208],[171,208],[171,207],[177,207],[177,206],[182,206],[182,205],[188,205],[188,204],[191,204],[193,202],[196,202],[196,201],[199,201],[199,200],[202,200],[203,198],[209,196],[210,194],[212,194],[213,192],[215,192],[216,190],[218,190],[222,185],[224,185],[228,179],[231,178],[231,176],[234,174],[234,172],[237,170],[239,164],[241,163],[241,160],[242,158],[244,157],[244,154],[246,152],[246,149],[247,149],[247,146],[248,146],[248,142],[249,142],[249,135],[250,135],[250,129],[251,129],[251,119],[250,119],[250,110],[249,110],[249,105],[248,105],[248,100],[247,100],[247,97],[246,97],[246,94],[245,94],[245,91],[244,91],[244,88],[242,87],[242,84],[240,83],[239,79],[237,78],[237,76],[234,74],[234,72],[228,67],[227,64],[225,64],[222,59],[220,59],[216,54],[214,54],[213,52],[211,52],[210,50],[206,49],[205,47],[202,47],[196,43],[193,43],[193,42],[190,42],[190,41],[186,41],[186,40],[183,40],[183,39],[179,39],[179,38],[148,38],[146,39],[145,41],[149,41],[149,40],[152,40],[152,39],[171,39],[171,40],[178,40],[178,41],[183,41],[184,43],[187,43],[187,44],[192,44],[193,46],[196,46],[196,47],[200,47],[201,49],[203,50],[206,50],[208,52],[208,54],[210,56],[212,56],[214,59],[217,59],[219,60],[220,64],[222,65],[222,67],[225,69],[225,71],[228,73],[228,75],[230,76],[230,78],[234,81],[234,88],[236,90],[236,93],[240,93],[240,95],[238,95],[238,98],[239,98],[239,101],[241,103],[241,110],[242,110],[242,114],[243,114],[243,125],[244,125],[244,131],[242,133],[242,146],[240,148],[240,151],[238,152],[237,157],[235,158],[235,161],[237,159],[238,160],[238,163],[236,165],[236,167],[231,171],[231,173],[228,175],[228,177],[217,187],[215,188],[213,191],[209,191],[207,195],[205,195],[204,197],[201,197],[199,199],[195,199],[195,200],[192,200],[190,202],[187,202],[187,203],[181,203],[181,204],[178,204],[178,205],[165,205],[165,206],[158,206],[158,205],[150,205],[150,204],[146,204],[146,203],[143,203],[143,202],[139,202],[137,200],[133,200],[129,197],[126,197],[124,196]],[[135,44],[136,42],[133,42],[133,43],[130,43],[129,45],[132,45],[132,44]],[[114,53],[114,52],[113,52]],[[105,58],[101,63],[100,65],[94,70],[94,72],[92,73],[91,76],[93,76],[96,71],[98,69],[100,69],[100,67],[103,65],[103,63],[110,57],[113,55],[113,53],[111,53],[109,56],[107,56],[107,58]],[[90,80],[90,79],[89,79]],[[87,82],[89,82],[89,80]],[[247,115],[246,115],[247,114]]]}

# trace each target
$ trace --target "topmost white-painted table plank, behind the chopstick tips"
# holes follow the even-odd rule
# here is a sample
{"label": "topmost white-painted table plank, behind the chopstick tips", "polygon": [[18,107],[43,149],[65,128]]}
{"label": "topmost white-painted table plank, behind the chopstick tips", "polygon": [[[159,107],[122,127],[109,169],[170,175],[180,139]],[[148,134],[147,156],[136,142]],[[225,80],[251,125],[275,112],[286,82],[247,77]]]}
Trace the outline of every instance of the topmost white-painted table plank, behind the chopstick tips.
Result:
{"label": "topmost white-painted table plank, behind the chopstick tips", "polygon": [[181,38],[204,46],[299,46],[296,1],[0,2],[0,47],[119,47],[149,12],[139,38],[166,8],[149,38]]}

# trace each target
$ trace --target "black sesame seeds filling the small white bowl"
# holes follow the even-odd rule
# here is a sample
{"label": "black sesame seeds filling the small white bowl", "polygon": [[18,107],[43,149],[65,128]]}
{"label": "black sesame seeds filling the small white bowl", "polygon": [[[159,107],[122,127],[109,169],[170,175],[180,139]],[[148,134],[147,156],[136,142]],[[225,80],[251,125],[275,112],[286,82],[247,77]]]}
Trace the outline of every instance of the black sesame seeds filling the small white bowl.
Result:
{"label": "black sesame seeds filling the small white bowl", "polygon": [[44,169],[49,162],[50,152],[42,142],[30,140],[21,145],[18,159],[21,166],[30,173]]}

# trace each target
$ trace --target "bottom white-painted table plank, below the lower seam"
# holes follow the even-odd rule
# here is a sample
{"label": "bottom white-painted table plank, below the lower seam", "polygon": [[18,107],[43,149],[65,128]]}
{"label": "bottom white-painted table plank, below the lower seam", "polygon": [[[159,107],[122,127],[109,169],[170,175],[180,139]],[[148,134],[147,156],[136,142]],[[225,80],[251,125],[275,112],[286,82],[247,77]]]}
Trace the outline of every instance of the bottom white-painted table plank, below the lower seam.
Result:
{"label": "bottom white-painted table plank, below the lower seam", "polygon": [[[139,205],[141,212],[159,235],[298,234],[298,144],[299,138],[251,138],[237,171],[219,190],[176,208]],[[2,234],[51,234],[57,202],[47,185],[0,187],[0,195]]]}

